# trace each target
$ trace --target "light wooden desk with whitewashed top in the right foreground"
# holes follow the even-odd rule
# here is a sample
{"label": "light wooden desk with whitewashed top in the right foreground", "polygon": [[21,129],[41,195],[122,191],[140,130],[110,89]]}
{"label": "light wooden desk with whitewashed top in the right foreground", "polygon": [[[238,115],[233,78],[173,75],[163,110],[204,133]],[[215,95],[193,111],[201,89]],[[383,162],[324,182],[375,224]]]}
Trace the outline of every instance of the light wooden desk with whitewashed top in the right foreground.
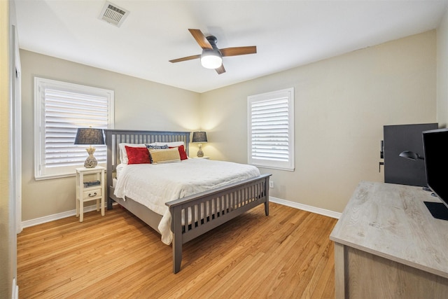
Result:
{"label": "light wooden desk with whitewashed top in the right foreground", "polygon": [[448,221],[421,187],[362,181],[330,239],[336,298],[448,298]]}

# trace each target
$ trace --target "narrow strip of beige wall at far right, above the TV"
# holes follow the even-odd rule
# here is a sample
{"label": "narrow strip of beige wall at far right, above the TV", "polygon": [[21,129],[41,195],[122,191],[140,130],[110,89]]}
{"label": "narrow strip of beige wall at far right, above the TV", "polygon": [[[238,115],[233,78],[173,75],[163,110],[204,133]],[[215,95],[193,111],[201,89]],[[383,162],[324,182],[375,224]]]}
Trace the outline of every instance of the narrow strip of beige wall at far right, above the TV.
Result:
{"label": "narrow strip of beige wall at far right, above the TV", "polygon": [[437,28],[437,122],[448,127],[448,14]]}

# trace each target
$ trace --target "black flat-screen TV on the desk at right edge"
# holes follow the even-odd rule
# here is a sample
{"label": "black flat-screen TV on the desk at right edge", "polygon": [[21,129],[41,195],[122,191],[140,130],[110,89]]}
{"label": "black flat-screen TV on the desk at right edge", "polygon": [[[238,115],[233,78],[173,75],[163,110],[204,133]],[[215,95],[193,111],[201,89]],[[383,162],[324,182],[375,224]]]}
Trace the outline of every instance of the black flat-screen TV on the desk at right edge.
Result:
{"label": "black flat-screen TV on the desk at right edge", "polygon": [[448,129],[423,131],[426,182],[442,202],[425,202],[434,218],[448,220]]}

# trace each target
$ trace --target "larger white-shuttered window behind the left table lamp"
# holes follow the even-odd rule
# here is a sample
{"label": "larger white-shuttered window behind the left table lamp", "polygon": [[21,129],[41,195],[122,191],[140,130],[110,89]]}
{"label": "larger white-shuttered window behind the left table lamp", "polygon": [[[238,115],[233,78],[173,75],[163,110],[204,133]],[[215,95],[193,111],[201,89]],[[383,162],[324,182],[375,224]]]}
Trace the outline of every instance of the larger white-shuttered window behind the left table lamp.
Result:
{"label": "larger white-shuttered window behind the left table lamp", "polygon": [[[84,165],[85,148],[73,144],[78,127],[113,128],[113,90],[34,78],[34,176],[72,176]],[[98,163],[106,146],[95,146]]]}

